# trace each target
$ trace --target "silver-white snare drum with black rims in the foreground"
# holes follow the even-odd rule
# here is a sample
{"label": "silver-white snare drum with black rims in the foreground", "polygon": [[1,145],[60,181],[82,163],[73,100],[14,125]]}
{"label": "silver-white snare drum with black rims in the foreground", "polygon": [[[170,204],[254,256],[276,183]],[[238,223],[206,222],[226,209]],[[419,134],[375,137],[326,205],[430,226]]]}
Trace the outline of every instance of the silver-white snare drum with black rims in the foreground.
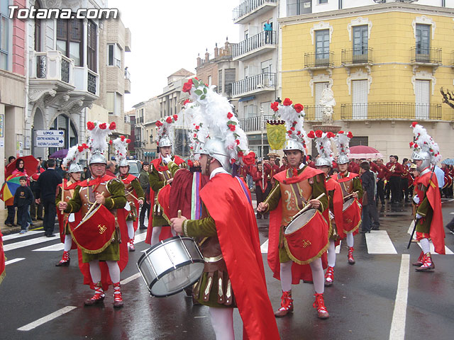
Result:
{"label": "silver-white snare drum with black rims in the foreground", "polygon": [[194,239],[176,236],[145,251],[137,267],[150,294],[165,297],[199,280],[204,272],[204,257]]}

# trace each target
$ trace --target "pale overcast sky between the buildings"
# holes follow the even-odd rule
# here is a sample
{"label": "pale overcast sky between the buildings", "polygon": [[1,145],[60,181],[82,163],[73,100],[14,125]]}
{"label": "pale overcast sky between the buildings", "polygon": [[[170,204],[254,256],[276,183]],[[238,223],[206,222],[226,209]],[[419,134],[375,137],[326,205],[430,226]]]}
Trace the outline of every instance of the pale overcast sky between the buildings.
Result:
{"label": "pale overcast sky between the buildings", "polygon": [[167,77],[184,68],[193,73],[196,57],[214,45],[238,42],[238,25],[232,11],[238,0],[109,0],[121,21],[131,30],[131,52],[125,66],[131,73],[131,94],[125,111],[136,103],[162,93]]}

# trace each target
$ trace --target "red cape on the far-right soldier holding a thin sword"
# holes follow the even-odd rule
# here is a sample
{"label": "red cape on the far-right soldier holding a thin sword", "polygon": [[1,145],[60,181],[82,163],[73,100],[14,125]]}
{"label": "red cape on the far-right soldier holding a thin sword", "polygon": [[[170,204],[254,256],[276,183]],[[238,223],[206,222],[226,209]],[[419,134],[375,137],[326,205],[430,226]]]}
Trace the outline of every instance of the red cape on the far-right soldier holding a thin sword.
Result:
{"label": "red cape on the far-right soldier holding a thin sword", "polygon": [[[438,189],[437,176],[432,176],[432,172],[423,174],[419,177],[418,183],[422,183],[427,189],[426,196],[433,210],[431,231],[429,232],[435,251],[438,254],[445,254],[445,229],[443,229],[443,215],[441,214],[441,197]],[[430,183],[429,183],[430,181]]]}

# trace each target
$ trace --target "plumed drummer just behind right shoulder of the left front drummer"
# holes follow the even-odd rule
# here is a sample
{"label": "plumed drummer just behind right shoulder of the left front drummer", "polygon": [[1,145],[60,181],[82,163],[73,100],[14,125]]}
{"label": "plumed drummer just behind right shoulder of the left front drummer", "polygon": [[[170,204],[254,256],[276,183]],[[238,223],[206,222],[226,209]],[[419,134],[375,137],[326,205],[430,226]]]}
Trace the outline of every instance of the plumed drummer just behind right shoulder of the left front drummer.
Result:
{"label": "plumed drummer just behind right shoulder of the left front drummer", "polygon": [[123,209],[125,210],[126,225],[128,226],[129,251],[135,251],[134,234],[138,227],[138,211],[143,205],[145,194],[143,193],[138,178],[129,174],[129,163],[128,159],[126,159],[126,155],[128,152],[128,144],[131,140],[126,139],[125,136],[120,136],[110,142],[114,145],[115,158],[120,172],[120,174],[118,174],[118,179],[121,179],[125,186],[126,200],[128,201]]}

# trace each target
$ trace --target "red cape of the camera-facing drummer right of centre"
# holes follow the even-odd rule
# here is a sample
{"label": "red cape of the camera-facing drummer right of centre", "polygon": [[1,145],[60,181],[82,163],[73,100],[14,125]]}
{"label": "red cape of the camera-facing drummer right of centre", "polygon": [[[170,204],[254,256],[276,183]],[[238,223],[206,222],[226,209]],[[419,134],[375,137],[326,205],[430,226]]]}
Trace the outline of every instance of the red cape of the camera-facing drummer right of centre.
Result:
{"label": "red cape of the camera-facing drummer right of centre", "polygon": [[[323,174],[323,171],[319,169],[311,168],[306,166],[304,171],[301,172],[298,176],[293,176],[287,179],[287,170],[279,172],[275,175],[274,178],[277,181],[282,183],[297,183],[299,181],[304,181],[318,174]],[[323,215],[324,216],[324,215]],[[270,266],[271,271],[273,272],[273,277],[280,280],[280,271],[281,266],[279,262],[279,230],[281,228],[282,222],[282,199],[279,200],[277,208],[270,211],[270,229],[268,230],[268,265]],[[326,252],[321,256],[321,261],[323,268],[328,266],[328,261],[326,259]],[[292,284],[297,285],[300,280],[311,281],[312,280],[312,271],[309,264],[297,264],[292,263]]]}

